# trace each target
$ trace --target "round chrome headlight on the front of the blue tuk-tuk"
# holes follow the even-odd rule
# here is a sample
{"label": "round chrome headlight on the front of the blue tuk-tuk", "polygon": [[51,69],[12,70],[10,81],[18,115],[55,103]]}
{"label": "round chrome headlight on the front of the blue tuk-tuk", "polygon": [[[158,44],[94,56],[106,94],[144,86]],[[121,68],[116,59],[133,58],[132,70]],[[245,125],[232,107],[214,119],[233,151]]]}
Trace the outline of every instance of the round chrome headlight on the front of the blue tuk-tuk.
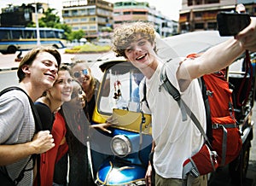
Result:
{"label": "round chrome headlight on the front of the blue tuk-tuk", "polygon": [[125,135],[114,136],[111,140],[111,149],[113,154],[125,157],[131,153],[131,142]]}

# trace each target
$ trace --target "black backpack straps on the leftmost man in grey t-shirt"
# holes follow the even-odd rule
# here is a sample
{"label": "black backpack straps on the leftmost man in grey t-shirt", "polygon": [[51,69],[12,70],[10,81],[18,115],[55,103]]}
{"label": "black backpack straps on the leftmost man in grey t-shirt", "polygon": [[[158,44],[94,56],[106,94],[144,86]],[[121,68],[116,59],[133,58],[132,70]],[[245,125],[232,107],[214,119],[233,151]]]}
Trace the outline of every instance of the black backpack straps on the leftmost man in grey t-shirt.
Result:
{"label": "black backpack straps on the leftmost man in grey t-shirt", "polygon": [[[4,90],[2,90],[2,91],[0,92],[0,96],[2,96],[4,93],[6,93],[6,92],[8,92],[8,91],[10,91],[10,90],[20,90],[20,91],[22,91],[24,94],[26,94],[26,91],[23,90],[23,89],[21,89],[20,87],[18,87],[18,86],[10,86],[10,87],[5,88]],[[40,118],[39,118],[38,111],[37,111],[37,109],[36,109],[35,106],[34,106],[34,102],[32,102],[32,99],[30,98],[30,96],[28,96],[27,94],[26,94],[26,96],[28,97],[30,106],[31,106],[31,108],[32,108],[32,113],[33,113],[33,116],[34,116],[34,119],[35,119],[36,131],[42,131],[42,130],[43,130],[43,125],[42,125],[41,120],[40,120]],[[37,156],[38,156],[38,157],[37,157]],[[39,155],[37,155],[37,154],[32,154],[32,155],[31,155],[30,159],[29,159],[29,160],[27,161],[27,163],[26,163],[26,166],[28,165],[28,163],[30,162],[30,160],[33,160],[33,166],[32,166],[32,168],[26,170],[26,166],[24,166],[24,168],[22,169],[22,171],[20,171],[19,176],[16,177],[15,180],[14,180],[15,185],[17,185],[17,184],[21,181],[21,179],[24,177],[24,172],[25,172],[25,171],[32,171],[33,167],[35,166],[35,161],[37,160],[37,158],[38,158],[38,161],[39,161],[39,160],[40,160],[40,159],[39,159],[39,158],[40,158]],[[40,161],[39,161],[39,162],[40,162]],[[4,166],[4,167],[5,167],[5,166]],[[6,170],[6,167],[5,167],[5,170]],[[8,174],[8,171],[7,171],[7,170],[6,170],[6,176],[9,177],[9,174]],[[10,177],[9,177],[9,178],[10,178]],[[38,179],[39,179],[39,177],[38,177]]]}

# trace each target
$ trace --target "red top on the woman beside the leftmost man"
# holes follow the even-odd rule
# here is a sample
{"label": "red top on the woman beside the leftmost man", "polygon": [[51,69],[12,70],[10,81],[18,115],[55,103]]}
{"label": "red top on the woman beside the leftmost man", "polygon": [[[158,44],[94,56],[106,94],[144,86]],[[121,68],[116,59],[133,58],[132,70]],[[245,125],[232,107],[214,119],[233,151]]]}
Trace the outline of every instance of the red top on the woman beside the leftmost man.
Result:
{"label": "red top on the woman beside the leftmost man", "polygon": [[[61,113],[55,114],[55,122],[52,127],[51,134],[55,140],[55,147],[51,148],[44,154],[41,154],[40,160],[40,179],[42,186],[52,186],[55,163],[61,159],[61,157],[67,153],[67,142],[61,145],[61,140],[65,137],[67,132],[65,119],[61,116]],[[34,186],[37,185],[37,181],[34,182]]]}

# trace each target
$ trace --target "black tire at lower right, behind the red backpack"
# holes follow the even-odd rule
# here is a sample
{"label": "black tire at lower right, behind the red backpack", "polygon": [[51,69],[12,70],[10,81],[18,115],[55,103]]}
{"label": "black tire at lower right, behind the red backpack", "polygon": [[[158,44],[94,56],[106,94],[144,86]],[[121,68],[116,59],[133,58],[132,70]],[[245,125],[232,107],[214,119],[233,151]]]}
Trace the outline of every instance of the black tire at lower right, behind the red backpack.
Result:
{"label": "black tire at lower right, behind the red backpack", "polygon": [[244,185],[249,164],[250,148],[251,143],[247,140],[241,148],[240,155],[229,165],[230,177],[234,185]]}

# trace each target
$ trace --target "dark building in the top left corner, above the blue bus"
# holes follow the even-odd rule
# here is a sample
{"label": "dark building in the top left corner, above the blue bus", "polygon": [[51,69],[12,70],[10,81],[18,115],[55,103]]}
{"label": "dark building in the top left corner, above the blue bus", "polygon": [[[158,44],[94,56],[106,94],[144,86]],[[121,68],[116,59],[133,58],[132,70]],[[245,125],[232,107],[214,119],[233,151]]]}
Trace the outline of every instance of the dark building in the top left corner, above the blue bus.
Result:
{"label": "dark building in the top left corner, above the blue bus", "polygon": [[[37,3],[38,19],[40,19],[45,10],[49,8],[47,3]],[[21,26],[25,27],[31,21],[36,22],[35,3],[29,3],[21,6],[9,4],[9,7],[2,9],[1,26]]]}

